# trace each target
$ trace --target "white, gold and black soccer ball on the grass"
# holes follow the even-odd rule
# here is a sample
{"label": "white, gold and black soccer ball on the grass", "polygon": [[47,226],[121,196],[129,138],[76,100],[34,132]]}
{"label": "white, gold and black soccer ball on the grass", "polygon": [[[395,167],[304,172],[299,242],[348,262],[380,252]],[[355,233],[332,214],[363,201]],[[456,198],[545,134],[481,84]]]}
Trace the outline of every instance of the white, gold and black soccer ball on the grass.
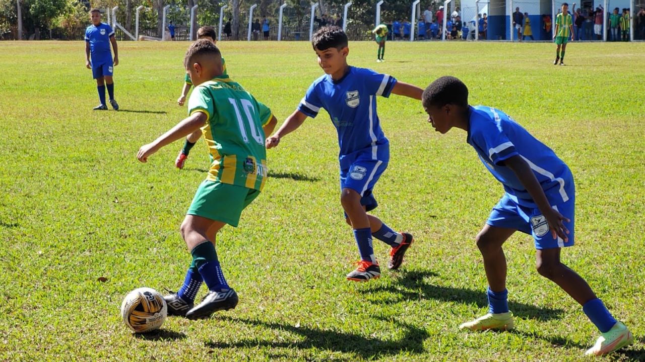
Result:
{"label": "white, gold and black soccer ball on the grass", "polygon": [[163,296],[152,288],[137,288],[123,299],[121,317],[135,333],[155,330],[166,320],[168,305]]}

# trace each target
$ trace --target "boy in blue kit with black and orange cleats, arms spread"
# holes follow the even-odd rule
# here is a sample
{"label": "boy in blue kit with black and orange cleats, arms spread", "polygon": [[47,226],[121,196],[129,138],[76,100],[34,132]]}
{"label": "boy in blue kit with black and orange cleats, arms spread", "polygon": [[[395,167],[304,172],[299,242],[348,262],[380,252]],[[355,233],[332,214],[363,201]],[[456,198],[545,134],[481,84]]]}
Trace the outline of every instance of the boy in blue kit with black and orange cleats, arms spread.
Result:
{"label": "boy in blue kit with black and orange cleats, arms spread", "polygon": [[282,137],[299,128],[321,108],[330,115],[338,132],[341,166],[341,204],[346,222],[353,228],[361,261],[348,280],[368,281],[381,276],[372,248],[372,236],[387,243],[389,269],[398,269],[412,243],[412,235],[397,233],[379,218],[367,214],[377,207],[372,190],[390,160],[388,138],[376,113],[376,97],[390,93],[421,99],[421,88],[397,82],[390,75],[347,64],[347,35],[338,26],[319,29],[312,38],[318,64],[326,73],[307,90],[301,104],[281,128],[266,139],[266,148],[277,146]]}

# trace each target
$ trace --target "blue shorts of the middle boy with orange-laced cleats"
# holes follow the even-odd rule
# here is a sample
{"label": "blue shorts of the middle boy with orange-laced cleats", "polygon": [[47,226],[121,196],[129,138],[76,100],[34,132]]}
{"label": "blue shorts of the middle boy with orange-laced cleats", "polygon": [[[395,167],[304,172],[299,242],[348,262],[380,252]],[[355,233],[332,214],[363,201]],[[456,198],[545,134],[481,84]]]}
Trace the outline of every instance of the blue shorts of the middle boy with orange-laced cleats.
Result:
{"label": "blue shorts of the middle boy with orange-laced cleats", "polygon": [[341,169],[341,190],[347,188],[359,193],[366,211],[376,209],[379,204],[372,189],[387,167],[388,162],[359,158],[349,168]]}

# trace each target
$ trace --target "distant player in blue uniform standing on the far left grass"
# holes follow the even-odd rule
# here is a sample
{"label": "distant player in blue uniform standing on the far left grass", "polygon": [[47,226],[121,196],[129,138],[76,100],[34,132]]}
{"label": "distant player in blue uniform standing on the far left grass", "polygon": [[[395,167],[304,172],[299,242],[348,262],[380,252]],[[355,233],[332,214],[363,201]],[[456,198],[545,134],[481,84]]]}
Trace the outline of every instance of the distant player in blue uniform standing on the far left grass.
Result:
{"label": "distant player in blue uniform standing on the far left grass", "polygon": [[[114,110],[119,110],[119,104],[114,100],[114,66],[119,65],[119,51],[117,50],[117,39],[114,37],[114,30],[109,24],[101,23],[101,10],[93,8],[90,10],[92,25],[85,30],[85,66],[92,70],[92,76],[96,79],[101,104],[94,107],[94,110],[107,110],[105,105],[105,88],[110,94],[110,104]],[[114,62],[110,43],[114,48]],[[90,54],[92,59],[90,59]]]}

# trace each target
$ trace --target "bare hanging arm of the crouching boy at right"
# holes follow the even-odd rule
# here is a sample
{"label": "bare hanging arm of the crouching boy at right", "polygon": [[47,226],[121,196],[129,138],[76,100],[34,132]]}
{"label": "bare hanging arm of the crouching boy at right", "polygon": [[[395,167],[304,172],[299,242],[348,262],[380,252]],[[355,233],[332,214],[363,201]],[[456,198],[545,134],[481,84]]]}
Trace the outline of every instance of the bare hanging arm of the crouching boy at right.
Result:
{"label": "bare hanging arm of the crouching boy at right", "polygon": [[529,195],[531,195],[531,198],[533,198],[533,202],[535,202],[535,205],[537,205],[537,208],[540,209],[542,215],[544,215],[544,218],[546,218],[546,221],[549,223],[551,236],[553,236],[554,239],[559,236],[562,240],[567,242],[569,238],[566,235],[569,231],[564,224],[562,224],[562,221],[566,220],[569,222],[570,220],[551,207],[549,200],[546,198],[546,195],[544,195],[542,186],[540,186],[533,170],[531,170],[531,166],[529,166],[526,160],[519,155],[515,155],[504,160],[504,165],[515,173],[515,176],[517,176],[524,188],[526,188],[526,192],[528,192]]}

